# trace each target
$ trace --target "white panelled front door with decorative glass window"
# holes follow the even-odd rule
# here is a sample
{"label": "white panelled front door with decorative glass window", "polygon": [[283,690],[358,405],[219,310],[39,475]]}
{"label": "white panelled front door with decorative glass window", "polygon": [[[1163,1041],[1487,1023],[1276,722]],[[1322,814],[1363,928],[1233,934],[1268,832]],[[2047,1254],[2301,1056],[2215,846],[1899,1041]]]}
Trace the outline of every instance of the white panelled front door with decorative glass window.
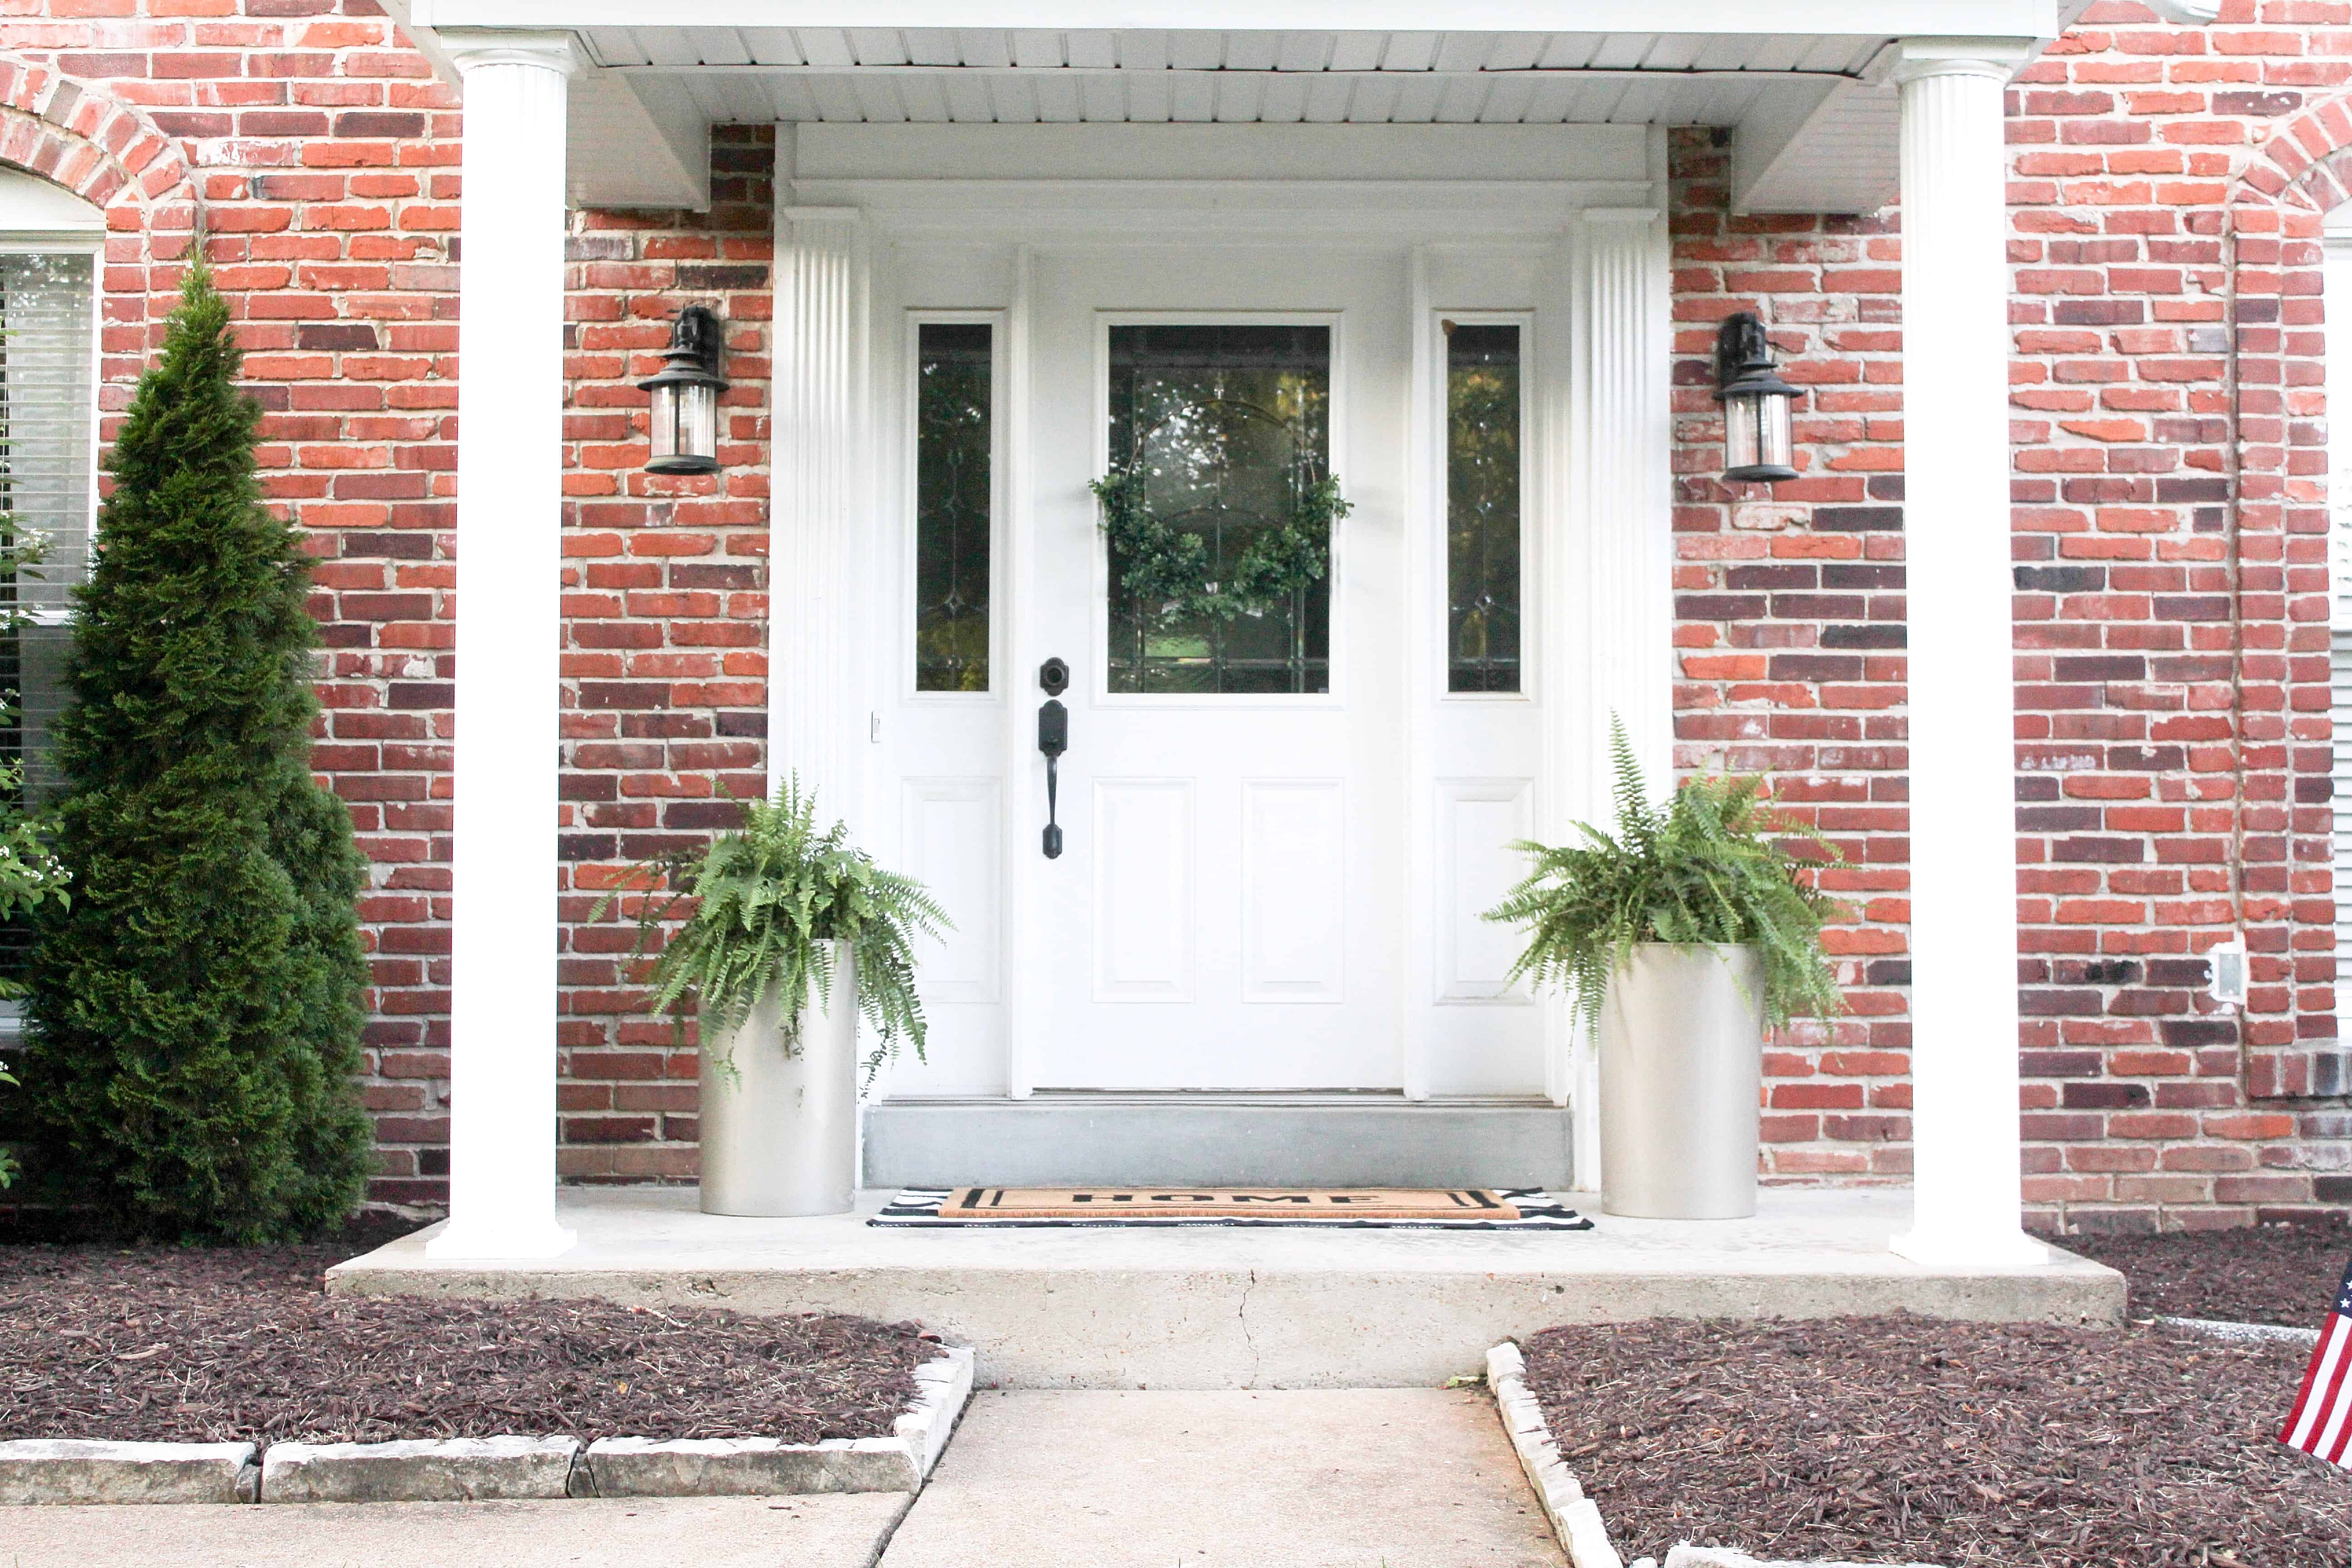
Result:
{"label": "white panelled front door with decorative glass window", "polygon": [[[1030,646],[1070,668],[1063,853],[1033,905],[1054,954],[1037,1088],[1404,1081],[1399,261],[1037,259]],[[1319,578],[1294,569],[1287,595],[1188,614],[1148,552],[1105,538],[1098,475],[1134,484],[1169,538],[1202,541],[1200,569],[1174,576],[1221,595],[1327,475],[1355,510]]]}

